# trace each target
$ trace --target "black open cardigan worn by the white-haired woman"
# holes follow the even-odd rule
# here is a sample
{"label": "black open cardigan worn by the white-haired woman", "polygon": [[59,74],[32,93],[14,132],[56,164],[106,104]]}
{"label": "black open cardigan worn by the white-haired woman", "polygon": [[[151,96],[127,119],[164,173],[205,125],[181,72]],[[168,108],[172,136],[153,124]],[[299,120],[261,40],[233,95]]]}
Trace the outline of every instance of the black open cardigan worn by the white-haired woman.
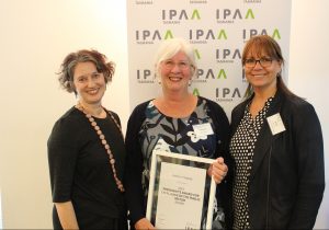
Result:
{"label": "black open cardigan worn by the white-haired woman", "polygon": [[[215,134],[217,139],[216,146],[216,154],[215,157],[223,157],[225,163],[228,165],[230,164],[229,154],[228,154],[228,139],[229,139],[229,123],[228,118],[224,112],[224,110],[215,102],[206,100],[206,103],[209,107],[209,116],[214,122],[215,125]],[[127,162],[126,162],[126,170],[124,176],[124,184],[126,189],[126,199],[129,209],[129,219],[131,225],[134,226],[136,221],[144,218],[146,215],[146,204],[145,197],[143,195],[141,189],[141,172],[143,169],[143,153],[141,147],[139,142],[138,133],[140,130],[140,126],[145,120],[145,111],[146,106],[148,105],[149,101],[144,102],[135,107],[133,111],[127,125],[127,133],[126,133],[126,150],[127,150]],[[226,176],[229,179],[230,176]],[[216,195],[217,199],[222,203],[223,207],[225,208],[225,214],[229,221],[230,217],[230,198],[228,195],[228,183],[229,180],[225,180],[217,186]],[[220,191],[220,192],[219,192]]]}

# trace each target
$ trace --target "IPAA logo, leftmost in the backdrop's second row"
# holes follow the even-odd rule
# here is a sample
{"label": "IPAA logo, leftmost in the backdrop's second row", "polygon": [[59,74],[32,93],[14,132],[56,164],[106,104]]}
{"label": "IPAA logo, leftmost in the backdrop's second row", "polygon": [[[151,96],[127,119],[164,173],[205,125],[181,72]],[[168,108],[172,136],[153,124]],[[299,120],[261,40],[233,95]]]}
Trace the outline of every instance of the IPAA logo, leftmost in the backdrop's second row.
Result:
{"label": "IPAA logo, leftmost in the backdrop's second row", "polygon": [[159,30],[143,30],[135,32],[136,43],[139,45],[154,44],[155,41],[162,41],[173,38],[172,31],[159,31]]}

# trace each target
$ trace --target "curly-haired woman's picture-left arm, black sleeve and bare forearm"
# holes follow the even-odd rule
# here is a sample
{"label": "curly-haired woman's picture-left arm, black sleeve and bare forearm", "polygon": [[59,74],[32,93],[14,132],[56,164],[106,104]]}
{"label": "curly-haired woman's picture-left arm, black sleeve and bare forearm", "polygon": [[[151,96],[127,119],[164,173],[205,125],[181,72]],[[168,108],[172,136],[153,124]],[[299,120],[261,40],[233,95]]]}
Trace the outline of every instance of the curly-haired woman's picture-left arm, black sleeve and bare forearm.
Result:
{"label": "curly-haired woman's picture-left arm, black sleeve and bare forearm", "polygon": [[[78,157],[79,124],[70,116],[60,118],[49,136],[48,163],[53,203],[64,229],[78,229],[71,188]],[[81,126],[80,126],[81,127]]]}

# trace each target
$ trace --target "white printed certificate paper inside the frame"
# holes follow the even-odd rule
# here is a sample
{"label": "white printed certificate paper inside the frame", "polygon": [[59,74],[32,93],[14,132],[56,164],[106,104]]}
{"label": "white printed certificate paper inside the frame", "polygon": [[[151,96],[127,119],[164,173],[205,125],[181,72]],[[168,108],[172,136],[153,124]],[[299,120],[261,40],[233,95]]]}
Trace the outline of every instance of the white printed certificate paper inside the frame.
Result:
{"label": "white printed certificate paper inside the frame", "polygon": [[200,229],[206,170],[161,162],[156,228]]}

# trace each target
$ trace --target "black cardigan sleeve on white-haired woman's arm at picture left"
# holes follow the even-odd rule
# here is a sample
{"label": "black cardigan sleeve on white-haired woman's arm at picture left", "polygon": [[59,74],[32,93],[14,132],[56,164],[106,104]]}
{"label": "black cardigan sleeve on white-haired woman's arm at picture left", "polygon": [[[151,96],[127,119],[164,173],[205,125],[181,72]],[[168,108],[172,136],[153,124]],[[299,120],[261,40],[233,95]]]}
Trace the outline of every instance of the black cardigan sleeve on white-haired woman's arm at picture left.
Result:
{"label": "black cardigan sleeve on white-haired woman's arm at picture left", "polygon": [[125,196],[129,210],[131,225],[145,217],[144,195],[141,188],[143,153],[138,133],[145,119],[145,106],[138,105],[132,113],[125,138],[127,161],[124,176]]}

